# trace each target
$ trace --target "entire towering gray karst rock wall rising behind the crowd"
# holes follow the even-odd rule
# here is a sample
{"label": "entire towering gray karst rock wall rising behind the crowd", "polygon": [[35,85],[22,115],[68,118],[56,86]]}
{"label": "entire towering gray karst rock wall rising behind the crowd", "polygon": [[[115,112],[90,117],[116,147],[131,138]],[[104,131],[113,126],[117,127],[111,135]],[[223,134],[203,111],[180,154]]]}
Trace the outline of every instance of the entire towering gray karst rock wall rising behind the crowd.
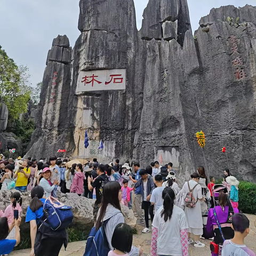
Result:
{"label": "entire towering gray karst rock wall rising behind the crowd", "polygon": [[[74,49],[58,36],[49,51],[27,156],[61,148],[67,157],[118,157],[146,167],[161,154],[184,181],[205,165],[195,135],[203,130],[211,174],[221,177],[228,165],[225,146],[231,173],[256,181],[256,7],[213,9],[194,37],[186,0],[149,0],[140,31],[132,0],[79,5]],[[124,69],[125,89],[112,82],[106,90]],[[113,74],[109,82],[99,80],[103,73]]]}

